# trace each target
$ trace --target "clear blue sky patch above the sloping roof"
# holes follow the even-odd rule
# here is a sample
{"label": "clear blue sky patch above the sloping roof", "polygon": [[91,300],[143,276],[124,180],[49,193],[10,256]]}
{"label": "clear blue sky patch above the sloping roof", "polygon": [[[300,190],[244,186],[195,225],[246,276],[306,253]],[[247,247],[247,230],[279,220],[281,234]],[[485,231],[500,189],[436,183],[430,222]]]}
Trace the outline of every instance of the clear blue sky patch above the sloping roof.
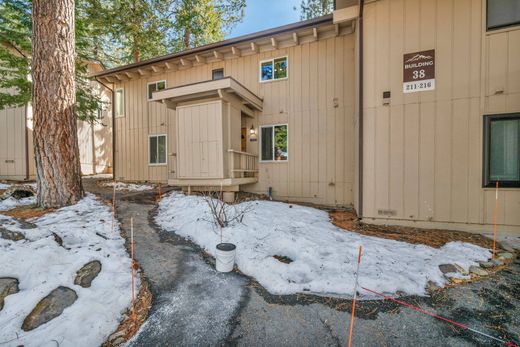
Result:
{"label": "clear blue sky patch above the sloping roof", "polygon": [[246,0],[242,23],[238,23],[226,39],[298,22],[300,3],[301,0]]}

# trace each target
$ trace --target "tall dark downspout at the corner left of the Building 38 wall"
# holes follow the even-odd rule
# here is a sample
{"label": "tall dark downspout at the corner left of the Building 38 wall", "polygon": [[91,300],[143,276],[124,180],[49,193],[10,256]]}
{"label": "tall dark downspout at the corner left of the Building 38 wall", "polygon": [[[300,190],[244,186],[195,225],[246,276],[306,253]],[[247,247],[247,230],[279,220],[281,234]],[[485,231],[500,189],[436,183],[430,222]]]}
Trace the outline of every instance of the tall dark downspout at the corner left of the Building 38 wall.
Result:
{"label": "tall dark downspout at the corner left of the Building 38 wall", "polygon": [[358,107],[359,107],[359,144],[358,144],[358,218],[363,218],[363,7],[364,0],[359,0],[359,19],[358,19]]}

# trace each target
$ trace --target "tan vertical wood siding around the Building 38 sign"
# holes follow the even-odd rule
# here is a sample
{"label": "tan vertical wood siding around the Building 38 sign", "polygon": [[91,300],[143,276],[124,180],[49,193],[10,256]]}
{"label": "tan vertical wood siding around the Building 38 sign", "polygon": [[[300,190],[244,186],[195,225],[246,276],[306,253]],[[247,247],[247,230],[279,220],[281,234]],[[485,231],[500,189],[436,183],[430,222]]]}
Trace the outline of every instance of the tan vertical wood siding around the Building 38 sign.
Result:
{"label": "tan vertical wood siding around the Building 38 sign", "polygon": [[[483,115],[520,111],[520,28],[486,33],[484,0],[381,0],[364,30],[364,217],[489,231]],[[403,54],[428,49],[435,90],[403,94]],[[520,190],[499,198],[498,223],[520,225]]]}

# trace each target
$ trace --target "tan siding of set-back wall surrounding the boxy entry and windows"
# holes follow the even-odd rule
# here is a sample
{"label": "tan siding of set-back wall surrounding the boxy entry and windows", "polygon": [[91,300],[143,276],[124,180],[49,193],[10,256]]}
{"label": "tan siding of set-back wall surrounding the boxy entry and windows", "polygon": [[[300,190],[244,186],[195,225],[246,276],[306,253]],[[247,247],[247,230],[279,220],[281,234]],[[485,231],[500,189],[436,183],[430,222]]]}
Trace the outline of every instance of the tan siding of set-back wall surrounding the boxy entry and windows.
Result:
{"label": "tan siding of set-back wall surrounding the boxy entry and windows", "polygon": [[[259,182],[242,189],[275,198],[327,205],[350,205],[354,182],[354,35],[340,35],[292,47],[156,73],[116,84],[125,89],[125,117],[116,118],[116,177],[125,180],[163,181],[178,169],[175,111],[148,102],[148,82],[166,79],[167,88],[211,79],[213,69],[231,76],[264,100],[263,112],[247,118],[245,126],[288,124],[289,160],[260,163]],[[288,56],[289,78],[259,82],[261,60]],[[233,113],[233,112],[231,112]],[[236,117],[234,117],[236,118]],[[240,127],[237,124],[237,146]],[[147,164],[149,134],[168,133],[169,165]],[[233,142],[234,144],[234,142]],[[258,142],[247,151],[258,153]],[[239,147],[237,148],[239,149]],[[226,166],[227,167],[227,166]]]}

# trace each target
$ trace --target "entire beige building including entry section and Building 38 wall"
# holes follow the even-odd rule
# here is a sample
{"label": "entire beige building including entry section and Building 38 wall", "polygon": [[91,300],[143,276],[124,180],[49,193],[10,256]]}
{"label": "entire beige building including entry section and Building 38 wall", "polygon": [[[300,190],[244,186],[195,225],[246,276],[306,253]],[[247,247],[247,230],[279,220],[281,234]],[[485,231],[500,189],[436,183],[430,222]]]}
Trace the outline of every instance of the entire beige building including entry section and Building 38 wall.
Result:
{"label": "entire beige building including entry section and Building 38 wall", "polygon": [[97,73],[115,177],[520,231],[520,3],[336,1],[331,16]]}

